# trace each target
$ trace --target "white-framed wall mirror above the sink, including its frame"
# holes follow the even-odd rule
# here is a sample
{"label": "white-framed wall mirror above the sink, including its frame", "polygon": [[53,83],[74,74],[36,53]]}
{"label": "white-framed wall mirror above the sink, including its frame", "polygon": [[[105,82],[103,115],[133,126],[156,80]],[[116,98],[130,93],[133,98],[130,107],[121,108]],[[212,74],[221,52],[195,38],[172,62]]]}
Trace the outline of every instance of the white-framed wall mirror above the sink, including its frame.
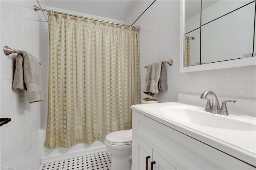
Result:
{"label": "white-framed wall mirror above the sink, including its frame", "polygon": [[255,65],[254,18],[255,0],[183,0],[181,72]]}

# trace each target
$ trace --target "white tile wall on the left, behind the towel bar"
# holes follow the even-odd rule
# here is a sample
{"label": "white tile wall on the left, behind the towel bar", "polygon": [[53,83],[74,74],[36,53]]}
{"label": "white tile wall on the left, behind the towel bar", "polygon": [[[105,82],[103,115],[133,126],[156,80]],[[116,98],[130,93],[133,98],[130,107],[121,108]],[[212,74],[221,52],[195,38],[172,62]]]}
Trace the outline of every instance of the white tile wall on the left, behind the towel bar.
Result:
{"label": "white tile wall on the left, behind the towel bar", "polygon": [[[44,7],[44,1],[39,1]],[[0,1],[0,117],[12,121],[0,128],[1,168],[36,168],[40,161],[37,133],[42,128],[45,102],[29,104],[23,91],[12,89],[16,54],[4,55],[3,47],[25,50],[47,68],[48,26],[42,12],[35,12],[36,0]],[[43,92],[46,94],[46,73],[42,71]],[[44,98],[46,99],[46,98]]]}

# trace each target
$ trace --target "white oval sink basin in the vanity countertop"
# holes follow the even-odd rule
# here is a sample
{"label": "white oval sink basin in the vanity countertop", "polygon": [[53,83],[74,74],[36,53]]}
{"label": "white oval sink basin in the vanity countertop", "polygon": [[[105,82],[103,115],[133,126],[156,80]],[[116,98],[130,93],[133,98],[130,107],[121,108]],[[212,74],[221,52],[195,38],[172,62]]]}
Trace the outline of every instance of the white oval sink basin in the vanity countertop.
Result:
{"label": "white oval sink basin in the vanity countertop", "polygon": [[199,107],[166,106],[160,112],[179,121],[196,125],[229,130],[256,130],[255,123],[241,121],[232,116],[212,114]]}

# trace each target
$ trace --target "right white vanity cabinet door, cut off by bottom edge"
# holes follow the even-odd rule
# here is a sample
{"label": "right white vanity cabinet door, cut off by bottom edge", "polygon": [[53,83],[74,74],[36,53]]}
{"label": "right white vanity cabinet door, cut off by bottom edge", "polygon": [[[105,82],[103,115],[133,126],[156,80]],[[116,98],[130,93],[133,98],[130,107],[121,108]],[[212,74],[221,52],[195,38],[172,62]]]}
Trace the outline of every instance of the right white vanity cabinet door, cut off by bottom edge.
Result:
{"label": "right white vanity cabinet door, cut off by bottom edge", "polygon": [[156,162],[152,170],[176,170],[169,162],[153,150],[153,160]]}

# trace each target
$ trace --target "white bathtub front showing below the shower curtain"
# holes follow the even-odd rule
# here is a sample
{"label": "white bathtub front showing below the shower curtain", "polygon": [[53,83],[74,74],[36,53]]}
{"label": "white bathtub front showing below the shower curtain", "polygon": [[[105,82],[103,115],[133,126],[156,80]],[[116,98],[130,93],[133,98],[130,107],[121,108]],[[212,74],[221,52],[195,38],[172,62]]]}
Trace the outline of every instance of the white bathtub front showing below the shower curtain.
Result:
{"label": "white bathtub front showing below the shower curtain", "polygon": [[38,131],[38,144],[41,164],[78,157],[82,155],[95,154],[107,150],[104,141],[96,141],[92,144],[80,143],[70,148],[57,147],[54,149],[48,149],[44,147],[45,135],[46,131],[44,129],[40,129]]}

